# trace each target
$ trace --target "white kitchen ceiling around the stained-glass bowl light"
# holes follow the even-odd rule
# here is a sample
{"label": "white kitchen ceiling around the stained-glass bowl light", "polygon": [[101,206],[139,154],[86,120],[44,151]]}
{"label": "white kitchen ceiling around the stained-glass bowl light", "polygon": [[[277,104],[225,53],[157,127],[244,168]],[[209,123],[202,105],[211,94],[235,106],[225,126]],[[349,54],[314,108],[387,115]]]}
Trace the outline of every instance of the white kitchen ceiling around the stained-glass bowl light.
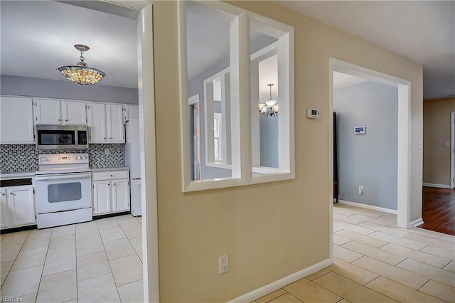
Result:
{"label": "white kitchen ceiling around the stained-glass bowl light", "polygon": [[80,53],[106,73],[100,85],[137,88],[137,23],[56,1],[0,1],[1,75],[66,80],[58,70],[75,65]]}

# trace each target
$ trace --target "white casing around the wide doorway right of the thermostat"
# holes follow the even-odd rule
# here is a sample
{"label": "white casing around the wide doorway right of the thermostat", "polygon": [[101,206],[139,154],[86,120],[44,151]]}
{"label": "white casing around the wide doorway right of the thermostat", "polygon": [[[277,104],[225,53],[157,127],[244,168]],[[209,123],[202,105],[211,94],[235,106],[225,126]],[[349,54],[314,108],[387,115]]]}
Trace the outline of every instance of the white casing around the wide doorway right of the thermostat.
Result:
{"label": "white casing around the wide doorway right of the thermostat", "polygon": [[[422,218],[410,222],[410,110],[411,90],[410,81],[396,78],[391,75],[380,73],[369,68],[363,68],[352,63],[330,58],[330,83],[331,93],[329,98],[329,111],[333,112],[333,72],[353,75],[366,80],[373,80],[377,83],[397,87],[398,91],[398,134],[397,134],[397,226],[400,228],[411,228],[423,222]],[[333,178],[333,119],[329,119],[330,140],[329,140],[329,176]],[[332,184],[332,182],[331,182]],[[360,191],[360,189],[359,189]],[[333,231],[333,191],[329,196],[330,201],[330,224]],[[333,258],[333,232],[330,235],[330,256]]]}

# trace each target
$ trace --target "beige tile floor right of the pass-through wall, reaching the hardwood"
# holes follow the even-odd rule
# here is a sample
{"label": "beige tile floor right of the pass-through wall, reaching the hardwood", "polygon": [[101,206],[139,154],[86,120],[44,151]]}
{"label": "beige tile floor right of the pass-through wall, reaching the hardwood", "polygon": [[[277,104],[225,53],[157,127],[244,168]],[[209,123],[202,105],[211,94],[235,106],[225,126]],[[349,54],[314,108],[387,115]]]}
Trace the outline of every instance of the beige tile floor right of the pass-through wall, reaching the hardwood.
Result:
{"label": "beige tile floor right of the pass-through wall, reaching the hardwood", "polygon": [[333,265],[255,302],[455,302],[455,236],[396,223],[334,206]]}

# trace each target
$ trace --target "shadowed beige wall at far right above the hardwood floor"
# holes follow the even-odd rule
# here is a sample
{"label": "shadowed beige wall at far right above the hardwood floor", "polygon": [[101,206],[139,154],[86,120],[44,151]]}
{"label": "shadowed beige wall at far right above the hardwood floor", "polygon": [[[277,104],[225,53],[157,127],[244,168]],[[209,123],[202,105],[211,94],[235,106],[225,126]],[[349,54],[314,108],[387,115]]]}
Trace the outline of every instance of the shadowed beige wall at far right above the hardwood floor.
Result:
{"label": "shadowed beige wall at far right above the hardwood floor", "polygon": [[424,183],[450,186],[450,113],[455,98],[424,102]]}

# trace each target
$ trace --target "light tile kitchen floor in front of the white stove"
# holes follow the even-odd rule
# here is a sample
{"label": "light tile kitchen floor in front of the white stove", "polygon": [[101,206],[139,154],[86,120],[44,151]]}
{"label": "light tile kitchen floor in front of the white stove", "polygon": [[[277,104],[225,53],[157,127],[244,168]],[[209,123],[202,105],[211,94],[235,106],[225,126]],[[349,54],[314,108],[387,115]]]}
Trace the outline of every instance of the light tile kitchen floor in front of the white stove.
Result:
{"label": "light tile kitchen floor in front of the white stove", "polygon": [[1,235],[1,297],[143,302],[141,242],[131,215]]}

